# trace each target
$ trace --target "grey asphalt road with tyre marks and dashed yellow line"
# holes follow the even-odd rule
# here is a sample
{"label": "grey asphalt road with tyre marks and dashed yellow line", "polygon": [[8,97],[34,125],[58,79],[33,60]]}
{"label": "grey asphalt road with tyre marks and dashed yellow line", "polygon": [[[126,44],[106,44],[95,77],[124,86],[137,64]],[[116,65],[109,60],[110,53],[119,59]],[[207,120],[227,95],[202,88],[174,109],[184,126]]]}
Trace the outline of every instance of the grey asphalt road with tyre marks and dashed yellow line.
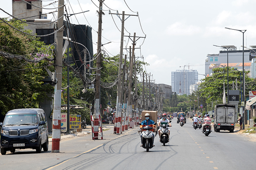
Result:
{"label": "grey asphalt road with tyre marks and dashed yellow line", "polygon": [[249,138],[221,131],[209,136],[192,128],[192,121],[183,127],[170,127],[170,142],[163,146],[156,136],[149,152],[140,147],[138,127],[121,135],[104,131],[104,140],[92,140],[91,135],[63,139],[61,153],[19,150],[0,155],[1,167],[27,170],[254,170],[256,143]]}

